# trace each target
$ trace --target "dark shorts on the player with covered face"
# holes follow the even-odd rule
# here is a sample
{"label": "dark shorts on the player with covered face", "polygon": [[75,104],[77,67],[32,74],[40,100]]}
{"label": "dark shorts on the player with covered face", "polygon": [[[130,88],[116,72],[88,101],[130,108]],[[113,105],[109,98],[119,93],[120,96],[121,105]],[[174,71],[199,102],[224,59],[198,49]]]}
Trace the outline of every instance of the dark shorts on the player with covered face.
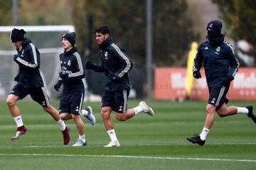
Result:
{"label": "dark shorts on the player with covered face", "polygon": [[209,99],[208,103],[211,105],[216,106],[216,111],[223,106],[223,103],[228,103],[228,98],[226,98],[226,95],[228,94],[228,86],[222,86],[218,88],[209,88]]}

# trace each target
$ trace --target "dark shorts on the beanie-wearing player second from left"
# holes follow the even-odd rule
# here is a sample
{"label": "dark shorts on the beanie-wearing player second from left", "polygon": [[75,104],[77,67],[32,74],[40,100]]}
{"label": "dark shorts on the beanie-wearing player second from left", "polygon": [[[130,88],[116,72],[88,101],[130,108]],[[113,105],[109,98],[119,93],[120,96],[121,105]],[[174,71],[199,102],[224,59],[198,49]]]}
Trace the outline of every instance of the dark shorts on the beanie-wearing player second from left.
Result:
{"label": "dark shorts on the beanie-wearing player second from left", "polygon": [[60,98],[59,113],[72,113],[77,115],[80,114],[84,96],[85,91],[63,93]]}

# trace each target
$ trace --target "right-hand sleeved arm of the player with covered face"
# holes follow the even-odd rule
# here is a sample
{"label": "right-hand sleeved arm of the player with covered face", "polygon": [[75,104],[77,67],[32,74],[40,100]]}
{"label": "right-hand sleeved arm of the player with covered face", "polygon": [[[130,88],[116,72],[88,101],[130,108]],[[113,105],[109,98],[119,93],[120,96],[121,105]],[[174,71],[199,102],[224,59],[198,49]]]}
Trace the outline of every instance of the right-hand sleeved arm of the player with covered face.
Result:
{"label": "right-hand sleeved arm of the player with covered face", "polygon": [[235,57],[235,52],[231,45],[228,45],[228,60],[230,62],[230,69],[228,71],[228,80],[232,81],[235,78],[235,74],[238,72],[239,62]]}

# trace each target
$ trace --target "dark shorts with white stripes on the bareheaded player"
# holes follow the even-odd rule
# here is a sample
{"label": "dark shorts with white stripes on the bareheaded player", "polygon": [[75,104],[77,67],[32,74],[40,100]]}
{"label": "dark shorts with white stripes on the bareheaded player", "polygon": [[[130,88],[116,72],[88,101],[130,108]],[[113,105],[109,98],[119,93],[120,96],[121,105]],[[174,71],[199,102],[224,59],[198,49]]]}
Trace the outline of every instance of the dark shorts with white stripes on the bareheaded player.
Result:
{"label": "dark shorts with white stripes on the bareheaded player", "polygon": [[119,91],[104,91],[102,96],[102,107],[110,106],[117,113],[125,113],[127,111],[127,101],[129,89]]}

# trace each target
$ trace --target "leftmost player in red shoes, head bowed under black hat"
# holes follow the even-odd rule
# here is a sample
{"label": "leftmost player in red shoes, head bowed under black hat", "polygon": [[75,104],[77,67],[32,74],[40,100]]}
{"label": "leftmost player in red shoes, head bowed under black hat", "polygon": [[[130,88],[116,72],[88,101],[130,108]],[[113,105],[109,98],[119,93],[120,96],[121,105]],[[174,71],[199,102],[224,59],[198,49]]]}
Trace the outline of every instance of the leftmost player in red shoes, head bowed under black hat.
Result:
{"label": "leftmost player in red shoes, head bowed under black hat", "polygon": [[17,84],[6,99],[9,111],[18,127],[11,140],[18,140],[18,137],[24,135],[27,131],[23,125],[21,111],[16,102],[30,95],[33,101],[43,106],[43,109],[58,123],[63,133],[63,144],[68,145],[70,141],[68,126],[60,119],[58,111],[50,105],[46,89],[44,88],[43,79],[39,71],[40,53],[29,38],[24,38],[25,33],[26,31],[23,29],[18,30],[14,28],[10,35],[11,42],[16,46],[18,52],[17,55],[14,55],[14,61],[18,64],[18,75],[14,78]]}

